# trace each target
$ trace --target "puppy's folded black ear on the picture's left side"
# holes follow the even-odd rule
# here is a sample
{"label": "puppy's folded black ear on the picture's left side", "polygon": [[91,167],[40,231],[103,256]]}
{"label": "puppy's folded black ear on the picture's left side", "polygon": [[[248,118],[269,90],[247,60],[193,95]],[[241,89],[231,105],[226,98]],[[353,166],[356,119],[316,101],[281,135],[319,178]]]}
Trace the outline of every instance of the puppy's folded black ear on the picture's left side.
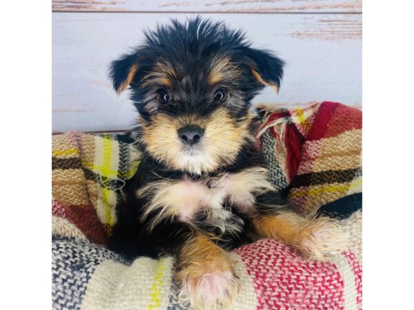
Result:
{"label": "puppy's folded black ear on the picture's left side", "polygon": [[110,64],[110,79],[118,94],[124,92],[137,74],[137,54],[126,54]]}

